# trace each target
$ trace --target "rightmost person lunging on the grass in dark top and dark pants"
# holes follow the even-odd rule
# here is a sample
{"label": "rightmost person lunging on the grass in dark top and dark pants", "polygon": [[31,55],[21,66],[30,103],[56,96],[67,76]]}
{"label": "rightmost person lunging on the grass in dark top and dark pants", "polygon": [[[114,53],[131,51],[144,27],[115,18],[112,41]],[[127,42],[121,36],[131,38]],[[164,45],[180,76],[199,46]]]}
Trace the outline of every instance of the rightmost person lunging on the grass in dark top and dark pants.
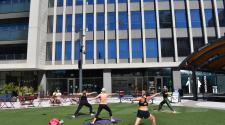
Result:
{"label": "rightmost person lunging on the grass in dark top and dark pants", "polygon": [[164,86],[163,91],[162,91],[162,94],[163,94],[163,101],[160,102],[158,111],[160,111],[162,109],[162,106],[166,103],[167,106],[170,108],[170,110],[173,111],[173,113],[176,113],[176,111],[170,105],[170,102],[169,102],[169,99],[168,99],[169,93],[168,93],[168,89],[167,89],[166,86]]}

